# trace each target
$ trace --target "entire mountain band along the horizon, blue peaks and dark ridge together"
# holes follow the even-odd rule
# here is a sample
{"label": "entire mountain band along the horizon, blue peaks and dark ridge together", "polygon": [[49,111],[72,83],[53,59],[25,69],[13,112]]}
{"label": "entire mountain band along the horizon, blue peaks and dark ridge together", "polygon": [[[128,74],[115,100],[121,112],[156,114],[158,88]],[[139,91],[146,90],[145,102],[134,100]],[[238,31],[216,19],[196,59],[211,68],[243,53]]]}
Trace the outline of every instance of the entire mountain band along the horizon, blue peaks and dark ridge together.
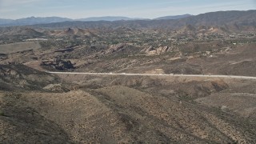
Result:
{"label": "entire mountain band along the horizon, blue peaks and dark ridge together", "polygon": [[[10,23],[8,23],[10,22]],[[166,16],[155,19],[126,18],[126,17],[99,17],[99,18],[22,18],[17,20],[0,19],[0,26],[26,26],[68,28],[80,27],[101,28],[101,27],[128,27],[128,28],[161,28],[178,29],[182,26],[223,26],[233,27],[235,30],[256,28],[256,10],[247,11],[218,11],[198,15]]]}

